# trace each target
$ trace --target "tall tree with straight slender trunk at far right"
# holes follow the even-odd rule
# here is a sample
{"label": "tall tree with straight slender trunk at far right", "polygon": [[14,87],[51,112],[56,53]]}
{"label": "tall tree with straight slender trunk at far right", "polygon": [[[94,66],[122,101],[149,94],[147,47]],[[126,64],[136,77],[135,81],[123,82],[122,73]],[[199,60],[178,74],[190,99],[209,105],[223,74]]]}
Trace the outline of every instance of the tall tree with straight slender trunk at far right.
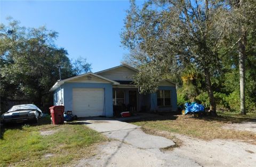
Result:
{"label": "tall tree with straight slender trunk at far right", "polygon": [[[245,114],[245,61],[246,61],[246,44],[247,36],[255,34],[256,22],[256,2],[250,0],[232,0],[232,20],[230,34],[236,35],[238,61],[239,61],[239,80],[240,80],[240,112]],[[235,46],[235,45],[234,45]]]}

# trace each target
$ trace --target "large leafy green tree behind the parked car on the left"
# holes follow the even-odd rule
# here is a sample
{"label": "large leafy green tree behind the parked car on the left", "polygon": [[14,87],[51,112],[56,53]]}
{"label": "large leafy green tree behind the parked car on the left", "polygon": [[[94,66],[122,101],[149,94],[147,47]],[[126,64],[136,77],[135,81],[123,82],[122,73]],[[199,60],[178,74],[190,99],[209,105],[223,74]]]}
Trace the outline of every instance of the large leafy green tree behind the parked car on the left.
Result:
{"label": "large leafy green tree behind the parked car on the left", "polygon": [[30,99],[38,106],[51,104],[50,88],[59,79],[90,71],[91,65],[78,60],[73,65],[64,48],[55,46],[58,33],[45,27],[20,27],[9,19],[0,26],[1,98]]}

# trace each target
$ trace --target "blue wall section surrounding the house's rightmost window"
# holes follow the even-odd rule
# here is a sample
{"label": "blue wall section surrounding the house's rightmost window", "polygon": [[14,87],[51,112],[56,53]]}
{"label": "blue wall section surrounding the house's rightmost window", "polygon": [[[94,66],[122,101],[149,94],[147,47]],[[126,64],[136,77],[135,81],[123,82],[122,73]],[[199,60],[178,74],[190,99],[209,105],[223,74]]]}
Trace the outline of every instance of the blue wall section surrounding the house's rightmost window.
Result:
{"label": "blue wall section surrounding the house's rightmost window", "polygon": [[150,111],[177,111],[177,91],[174,86],[159,86],[158,90],[171,90],[171,106],[158,107],[157,94],[151,94]]}

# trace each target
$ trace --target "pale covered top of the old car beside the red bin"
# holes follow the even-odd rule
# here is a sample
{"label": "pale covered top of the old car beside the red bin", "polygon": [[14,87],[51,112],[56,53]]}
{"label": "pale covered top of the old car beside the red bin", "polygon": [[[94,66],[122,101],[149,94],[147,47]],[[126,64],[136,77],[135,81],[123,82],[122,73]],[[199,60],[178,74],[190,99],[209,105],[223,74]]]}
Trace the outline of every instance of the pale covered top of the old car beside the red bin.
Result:
{"label": "pale covered top of the old car beside the red bin", "polygon": [[5,114],[6,115],[12,115],[14,113],[16,113],[16,114],[19,113],[19,114],[23,115],[23,114],[29,113],[30,111],[38,111],[39,115],[43,116],[43,112],[34,104],[14,105]]}

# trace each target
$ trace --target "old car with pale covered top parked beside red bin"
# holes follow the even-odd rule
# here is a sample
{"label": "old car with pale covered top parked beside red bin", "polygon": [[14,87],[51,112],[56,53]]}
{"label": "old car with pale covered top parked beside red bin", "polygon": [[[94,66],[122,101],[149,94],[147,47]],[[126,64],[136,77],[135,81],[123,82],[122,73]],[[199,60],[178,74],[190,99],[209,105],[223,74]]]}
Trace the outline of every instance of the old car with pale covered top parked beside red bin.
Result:
{"label": "old car with pale covered top parked beside red bin", "polygon": [[43,116],[43,112],[34,104],[14,105],[9,111],[2,114],[2,121],[4,123],[26,121],[37,123],[41,116]]}

